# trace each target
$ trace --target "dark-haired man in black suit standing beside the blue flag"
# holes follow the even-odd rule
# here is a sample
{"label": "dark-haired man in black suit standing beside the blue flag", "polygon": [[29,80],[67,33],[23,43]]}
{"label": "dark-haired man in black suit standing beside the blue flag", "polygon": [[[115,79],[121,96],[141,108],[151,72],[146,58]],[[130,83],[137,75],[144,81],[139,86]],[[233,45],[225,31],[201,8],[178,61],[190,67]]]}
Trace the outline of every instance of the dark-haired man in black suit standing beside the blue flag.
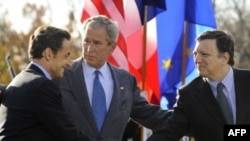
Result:
{"label": "dark-haired man in black suit standing beside the blue flag", "polygon": [[[250,71],[232,67],[231,36],[206,31],[198,36],[193,53],[199,76],[178,90],[172,117],[148,141],[178,141],[188,130],[195,141],[223,141],[225,124],[250,124]],[[225,96],[227,112],[220,106],[220,94]]]}

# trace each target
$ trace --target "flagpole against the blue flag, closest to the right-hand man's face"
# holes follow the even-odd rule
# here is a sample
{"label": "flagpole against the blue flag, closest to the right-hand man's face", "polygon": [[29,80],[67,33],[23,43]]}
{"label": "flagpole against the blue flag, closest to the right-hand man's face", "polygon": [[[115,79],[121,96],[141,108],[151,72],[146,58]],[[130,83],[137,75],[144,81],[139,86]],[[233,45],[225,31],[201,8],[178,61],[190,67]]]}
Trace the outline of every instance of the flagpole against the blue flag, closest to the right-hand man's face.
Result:
{"label": "flagpole against the blue flag, closest to the right-hand man's face", "polygon": [[183,51],[182,51],[182,70],[181,70],[181,82],[182,85],[186,83],[186,66],[187,66],[187,39],[188,39],[188,22],[184,22],[184,34],[183,34]]}

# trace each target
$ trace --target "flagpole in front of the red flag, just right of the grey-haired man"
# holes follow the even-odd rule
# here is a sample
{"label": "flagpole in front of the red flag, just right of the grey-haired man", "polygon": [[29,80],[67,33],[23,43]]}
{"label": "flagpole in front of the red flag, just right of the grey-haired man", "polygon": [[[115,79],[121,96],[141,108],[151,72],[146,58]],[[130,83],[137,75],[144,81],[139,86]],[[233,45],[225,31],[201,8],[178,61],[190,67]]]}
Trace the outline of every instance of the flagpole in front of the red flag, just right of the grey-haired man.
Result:
{"label": "flagpole in front of the red flag, just right of the grey-haired man", "polygon": [[[148,6],[144,5],[144,18],[143,18],[143,40],[142,40],[142,90],[145,90],[146,83],[146,58],[147,58],[147,15],[148,15]],[[147,97],[147,95],[146,95]],[[144,128],[140,127],[140,136],[141,141],[144,141]]]}

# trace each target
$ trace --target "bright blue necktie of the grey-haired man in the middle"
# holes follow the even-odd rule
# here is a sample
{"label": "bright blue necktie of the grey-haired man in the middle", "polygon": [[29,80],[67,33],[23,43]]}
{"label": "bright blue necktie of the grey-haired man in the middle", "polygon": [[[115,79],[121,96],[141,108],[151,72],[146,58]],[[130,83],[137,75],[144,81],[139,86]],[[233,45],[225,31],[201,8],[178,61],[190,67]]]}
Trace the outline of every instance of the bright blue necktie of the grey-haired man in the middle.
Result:
{"label": "bright blue necktie of the grey-haired man in the middle", "polygon": [[100,72],[96,70],[93,85],[92,110],[95,116],[98,131],[100,132],[107,110],[105,92],[101,82],[99,81],[99,74]]}

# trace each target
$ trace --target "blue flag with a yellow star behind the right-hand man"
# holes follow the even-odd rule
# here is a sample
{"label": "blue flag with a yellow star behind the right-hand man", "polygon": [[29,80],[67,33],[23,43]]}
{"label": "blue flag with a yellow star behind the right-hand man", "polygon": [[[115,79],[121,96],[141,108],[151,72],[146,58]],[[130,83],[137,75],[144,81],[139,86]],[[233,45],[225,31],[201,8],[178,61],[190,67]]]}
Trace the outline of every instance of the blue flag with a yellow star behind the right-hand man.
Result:
{"label": "blue flag with a yellow star behind the right-hand man", "polygon": [[164,109],[172,108],[176,89],[181,86],[185,28],[188,29],[186,82],[197,76],[192,55],[196,36],[216,28],[211,0],[169,0],[167,3],[168,10],[156,18],[161,107]]}

